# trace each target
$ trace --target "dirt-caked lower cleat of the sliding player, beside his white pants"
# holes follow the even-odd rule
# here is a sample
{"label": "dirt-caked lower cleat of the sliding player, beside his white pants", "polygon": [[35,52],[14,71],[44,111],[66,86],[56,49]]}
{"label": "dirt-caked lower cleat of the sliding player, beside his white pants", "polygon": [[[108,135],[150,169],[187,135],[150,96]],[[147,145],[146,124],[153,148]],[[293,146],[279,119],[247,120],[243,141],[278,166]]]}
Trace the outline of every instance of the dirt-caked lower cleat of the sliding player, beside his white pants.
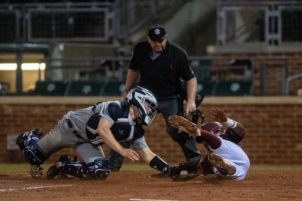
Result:
{"label": "dirt-caked lower cleat of the sliding player, beside his white pants", "polygon": [[213,165],[217,170],[223,175],[233,175],[236,172],[235,166],[231,165],[230,162],[223,159],[220,155],[211,152],[208,154],[208,159],[211,165]]}

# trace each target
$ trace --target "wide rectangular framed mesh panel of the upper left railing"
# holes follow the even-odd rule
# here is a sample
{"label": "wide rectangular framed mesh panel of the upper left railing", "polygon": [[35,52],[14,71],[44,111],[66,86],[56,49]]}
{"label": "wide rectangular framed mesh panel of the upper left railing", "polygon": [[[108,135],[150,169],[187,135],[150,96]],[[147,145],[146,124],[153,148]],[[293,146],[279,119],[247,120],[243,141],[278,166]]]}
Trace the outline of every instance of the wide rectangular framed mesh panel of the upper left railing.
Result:
{"label": "wide rectangular framed mesh panel of the upper left railing", "polygon": [[108,8],[29,9],[28,40],[31,42],[109,40]]}

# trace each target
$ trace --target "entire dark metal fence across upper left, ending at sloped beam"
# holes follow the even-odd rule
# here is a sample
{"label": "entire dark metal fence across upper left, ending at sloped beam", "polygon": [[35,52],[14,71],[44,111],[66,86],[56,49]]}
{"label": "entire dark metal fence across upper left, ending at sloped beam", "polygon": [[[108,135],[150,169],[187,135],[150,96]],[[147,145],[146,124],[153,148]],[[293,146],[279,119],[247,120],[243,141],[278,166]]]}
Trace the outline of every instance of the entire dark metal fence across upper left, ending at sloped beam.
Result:
{"label": "entire dark metal fence across upper left, ending at sloped beam", "polygon": [[112,43],[179,1],[0,4],[0,42]]}

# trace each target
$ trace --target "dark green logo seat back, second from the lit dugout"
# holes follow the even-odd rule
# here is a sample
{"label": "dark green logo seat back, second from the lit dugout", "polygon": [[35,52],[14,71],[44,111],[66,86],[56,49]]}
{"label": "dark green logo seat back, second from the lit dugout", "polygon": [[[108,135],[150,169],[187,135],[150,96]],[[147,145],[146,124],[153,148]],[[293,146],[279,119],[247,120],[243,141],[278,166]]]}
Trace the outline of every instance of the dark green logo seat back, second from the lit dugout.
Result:
{"label": "dark green logo seat back, second from the lit dugout", "polygon": [[68,96],[102,96],[105,82],[72,81]]}

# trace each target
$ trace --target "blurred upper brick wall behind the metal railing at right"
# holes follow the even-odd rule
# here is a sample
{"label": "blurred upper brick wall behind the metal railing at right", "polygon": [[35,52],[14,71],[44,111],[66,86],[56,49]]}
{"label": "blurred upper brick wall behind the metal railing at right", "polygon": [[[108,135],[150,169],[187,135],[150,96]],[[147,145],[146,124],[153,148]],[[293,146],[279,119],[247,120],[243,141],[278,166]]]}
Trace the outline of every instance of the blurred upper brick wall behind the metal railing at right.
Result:
{"label": "blurred upper brick wall behind the metal railing at right", "polygon": [[[267,52],[263,47],[258,49],[249,49],[249,46],[246,47],[249,51],[239,52],[236,47],[230,47],[229,49],[223,49],[223,47],[217,47],[217,52],[209,52],[209,56],[213,57],[213,66],[216,67],[227,67],[230,65],[230,61],[234,58],[236,59],[252,59],[252,68],[253,68],[253,86],[254,96],[259,96],[261,94],[261,68],[263,66],[267,67],[266,79],[264,87],[266,90],[265,95],[267,96],[281,96],[281,67],[287,66],[288,77],[291,77],[296,74],[302,73],[302,50],[301,48],[295,52],[290,51],[290,47],[274,47],[275,49],[272,52]],[[284,48],[285,50],[282,50]],[[246,50],[244,49],[244,50]],[[263,51],[263,52],[259,52]],[[273,52],[275,51],[275,52]],[[270,58],[271,56],[275,58]],[[229,77],[225,79],[243,79],[243,76],[229,74]],[[232,77],[233,76],[233,77]],[[213,78],[212,78],[213,79]],[[214,78],[215,80],[215,78]],[[302,88],[302,78],[292,80],[289,83],[289,95],[297,95],[297,90]]]}

